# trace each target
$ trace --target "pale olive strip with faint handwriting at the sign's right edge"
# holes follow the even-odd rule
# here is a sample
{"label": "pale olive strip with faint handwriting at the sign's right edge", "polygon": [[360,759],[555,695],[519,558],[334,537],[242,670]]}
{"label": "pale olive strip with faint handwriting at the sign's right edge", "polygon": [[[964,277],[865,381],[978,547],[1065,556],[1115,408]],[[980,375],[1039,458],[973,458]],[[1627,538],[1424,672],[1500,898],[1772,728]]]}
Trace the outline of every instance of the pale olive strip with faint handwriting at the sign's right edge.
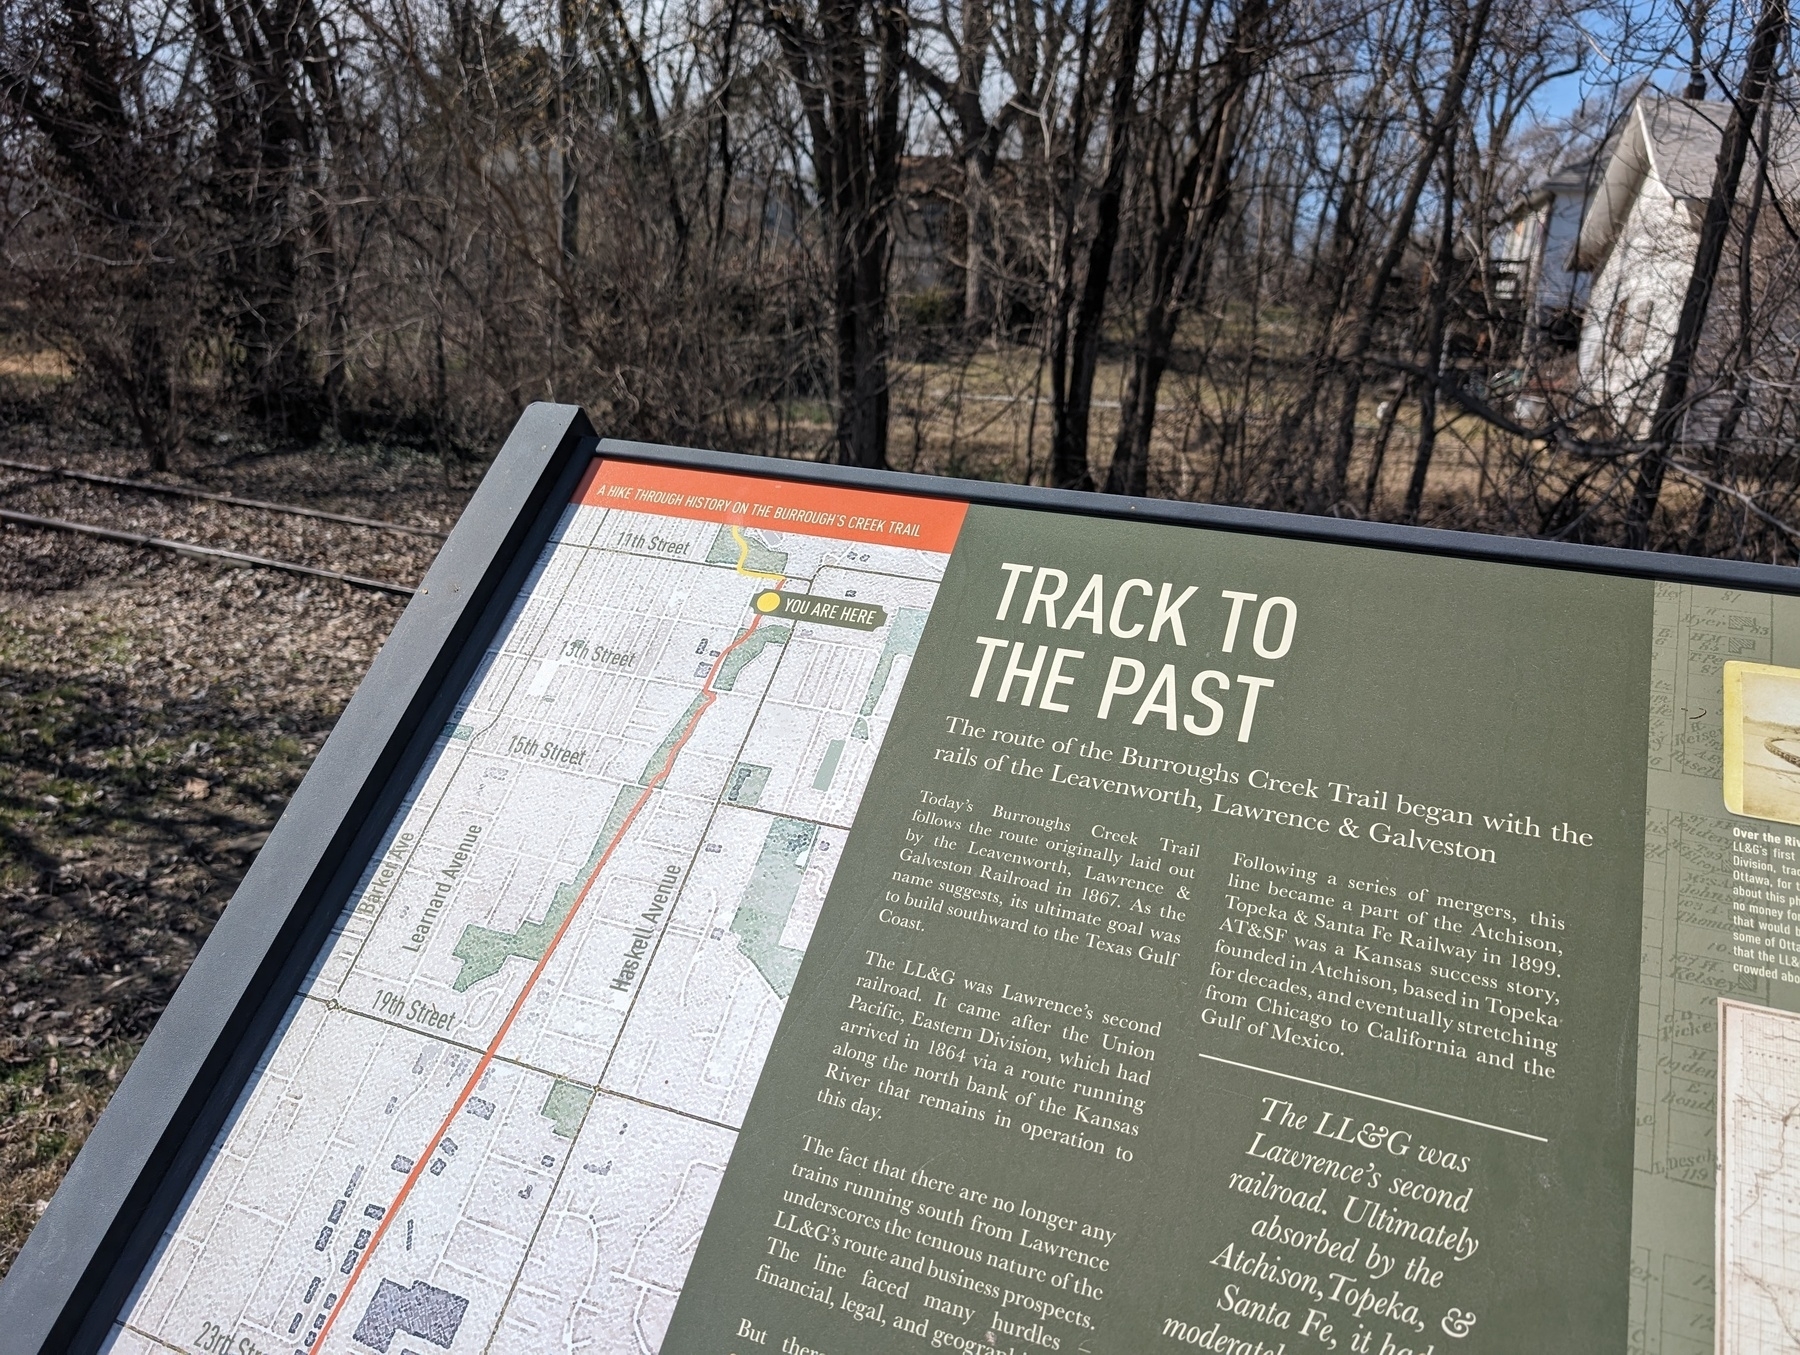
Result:
{"label": "pale olive strip with faint handwriting at the sign's right edge", "polygon": [[[1746,950],[1757,938],[1741,898],[1751,860],[1742,853],[1751,839],[1748,849],[1764,851],[1775,826],[1726,812],[1721,684],[1728,662],[1800,662],[1800,606],[1730,588],[1654,587],[1631,1348],[1712,1355],[1719,1013],[1737,1002],[1800,1006],[1800,990]],[[1800,851],[1786,840],[1793,831],[1778,830],[1780,849]]]}

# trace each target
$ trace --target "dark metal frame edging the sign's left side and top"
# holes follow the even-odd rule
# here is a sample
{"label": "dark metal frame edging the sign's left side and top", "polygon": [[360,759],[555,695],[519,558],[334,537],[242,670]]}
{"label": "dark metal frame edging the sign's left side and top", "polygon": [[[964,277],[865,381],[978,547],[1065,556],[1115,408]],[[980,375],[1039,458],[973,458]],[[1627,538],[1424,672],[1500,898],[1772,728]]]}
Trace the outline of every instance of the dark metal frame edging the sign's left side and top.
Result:
{"label": "dark metal frame edging the sign's left side and top", "polygon": [[1800,594],[1800,570],[601,441],[531,405],[56,1198],[0,1283],[0,1355],[97,1350],[594,455],[1049,513]]}

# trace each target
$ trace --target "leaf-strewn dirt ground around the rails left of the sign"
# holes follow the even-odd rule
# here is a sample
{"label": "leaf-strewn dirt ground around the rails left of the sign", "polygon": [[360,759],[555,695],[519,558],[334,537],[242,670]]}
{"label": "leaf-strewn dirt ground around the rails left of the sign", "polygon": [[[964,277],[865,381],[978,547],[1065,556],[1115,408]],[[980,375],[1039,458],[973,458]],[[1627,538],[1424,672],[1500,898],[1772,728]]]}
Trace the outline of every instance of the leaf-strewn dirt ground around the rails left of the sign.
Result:
{"label": "leaf-strewn dirt ground around the rails left of the sign", "polygon": [[[103,430],[0,455],[142,475]],[[479,468],[214,444],[176,475],[448,527]],[[0,468],[0,507],[416,581],[434,538]],[[403,597],[0,527],[0,1274],[329,734]]]}

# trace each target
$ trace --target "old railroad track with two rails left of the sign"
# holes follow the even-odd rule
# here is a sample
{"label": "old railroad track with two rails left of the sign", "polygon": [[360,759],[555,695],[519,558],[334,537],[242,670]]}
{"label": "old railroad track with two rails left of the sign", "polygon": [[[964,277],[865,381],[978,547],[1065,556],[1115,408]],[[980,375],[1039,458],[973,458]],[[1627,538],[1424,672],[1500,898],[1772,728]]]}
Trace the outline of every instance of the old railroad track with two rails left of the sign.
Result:
{"label": "old railroad track with two rails left of the sign", "polygon": [[[416,538],[419,545],[425,542],[441,542],[446,533],[436,527],[419,527],[407,522],[389,522],[383,518],[364,518],[349,513],[328,513],[324,509],[308,507],[302,504],[279,504],[265,498],[245,498],[238,495],[220,493],[216,489],[205,489],[193,484],[164,484],[158,480],[135,480],[122,475],[101,475],[97,471],[70,470],[63,466],[45,466],[32,461],[16,461],[11,457],[0,457],[0,471],[13,471],[11,482],[0,482],[0,498],[20,495],[23,491],[38,491],[38,497],[45,497],[45,489],[54,489],[52,495],[58,500],[67,500],[70,493],[79,500],[74,506],[74,513],[63,502],[54,507],[56,513],[27,513],[14,507],[0,507],[0,524],[13,527],[23,527],[27,531],[54,531],[68,533],[77,536],[86,536],[94,540],[117,542],[121,545],[133,545],[151,551],[167,551],[173,554],[187,556],[191,560],[214,560],[227,565],[248,567],[248,569],[268,569],[284,574],[299,574],[304,578],[329,579],[335,583],[344,583],[353,588],[367,588],[373,592],[385,592],[400,597],[410,597],[416,592],[412,583],[403,583],[398,579],[376,578],[373,574],[364,574],[351,569],[335,569],[326,563],[310,563],[306,560],[290,560],[277,554],[266,554],[263,551],[245,551],[238,549],[245,534],[256,531],[256,524],[266,524],[270,520],[292,518],[297,522],[301,534],[308,524],[319,524],[335,534],[337,529],[349,529],[347,534],[362,540],[365,536],[403,536]],[[29,479],[36,477],[36,479]],[[218,538],[223,527],[227,538],[236,536],[238,540],[187,540],[185,536],[162,534],[158,531],[142,531],[140,524],[121,524],[119,516],[142,516],[144,504],[160,504],[160,500],[173,500],[175,506],[185,506],[189,509],[187,522],[180,524],[187,529],[205,527],[207,534]],[[131,504],[139,509],[133,513]],[[229,524],[220,524],[212,515],[212,506],[221,506],[232,515],[241,515],[243,522],[238,531],[232,531]],[[164,511],[151,511],[153,516],[169,518],[176,513],[176,507],[164,507]],[[196,513],[207,513],[203,522],[196,522]],[[99,522],[92,518],[101,518]],[[106,518],[112,518],[108,522]],[[167,529],[166,529],[167,531]],[[308,545],[302,542],[302,545]],[[317,543],[311,543],[317,549]],[[331,540],[324,543],[333,547],[331,554],[340,554],[342,542]],[[311,554],[313,551],[304,551]],[[409,551],[409,556],[416,556],[418,549]],[[392,560],[392,552],[387,552]],[[337,561],[333,561],[337,563]],[[419,560],[409,560],[418,572],[423,572],[423,565],[428,563]]]}

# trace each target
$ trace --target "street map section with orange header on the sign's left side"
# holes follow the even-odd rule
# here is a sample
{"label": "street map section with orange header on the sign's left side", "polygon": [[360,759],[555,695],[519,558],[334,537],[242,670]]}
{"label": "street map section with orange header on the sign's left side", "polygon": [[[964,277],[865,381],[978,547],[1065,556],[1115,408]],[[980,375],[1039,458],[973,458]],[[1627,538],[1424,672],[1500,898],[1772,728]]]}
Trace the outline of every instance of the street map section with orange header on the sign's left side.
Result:
{"label": "street map section with orange header on the sign's left side", "polygon": [[961,518],[596,462],[110,1350],[657,1350]]}

